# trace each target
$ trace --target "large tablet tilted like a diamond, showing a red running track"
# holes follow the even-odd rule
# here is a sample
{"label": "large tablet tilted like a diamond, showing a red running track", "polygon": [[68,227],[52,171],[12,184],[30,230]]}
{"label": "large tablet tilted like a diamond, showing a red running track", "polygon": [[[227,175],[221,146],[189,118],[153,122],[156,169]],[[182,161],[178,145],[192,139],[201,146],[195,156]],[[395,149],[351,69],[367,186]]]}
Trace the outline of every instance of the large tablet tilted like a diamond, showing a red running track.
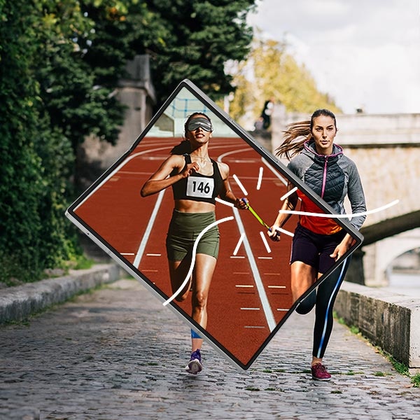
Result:
{"label": "large tablet tilted like a diamond, showing a red running track", "polygon": [[[174,212],[172,188],[148,197],[140,194],[162,162],[176,153],[175,146],[184,139],[186,119],[195,112],[204,113],[213,125],[210,158],[228,165],[232,192],[246,198],[250,206],[239,210],[216,199],[219,249],[209,288],[206,328],[193,319],[192,292],[179,302],[172,290],[166,246]],[[293,302],[290,247],[298,216],[290,216],[280,241],[270,241],[267,236],[267,226],[274,223],[288,183],[301,197],[311,200],[319,213],[335,212],[190,80],[176,87],[133,141],[130,149],[71,204],[66,216],[174,311],[186,323],[186,335],[192,328],[232,365],[247,370],[304,297],[342,262],[338,260]],[[207,185],[199,178],[195,181],[190,188],[206,194]],[[346,258],[363,237],[346,219],[334,220],[354,239],[342,257]],[[183,229],[179,231],[182,235]],[[195,254],[189,255],[190,273],[194,275]]]}

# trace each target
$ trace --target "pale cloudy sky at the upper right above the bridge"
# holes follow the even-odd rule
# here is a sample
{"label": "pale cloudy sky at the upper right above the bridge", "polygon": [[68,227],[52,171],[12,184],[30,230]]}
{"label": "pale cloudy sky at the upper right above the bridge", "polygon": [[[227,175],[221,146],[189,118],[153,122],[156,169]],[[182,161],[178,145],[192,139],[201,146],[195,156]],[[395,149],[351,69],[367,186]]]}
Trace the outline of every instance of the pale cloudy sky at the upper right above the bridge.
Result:
{"label": "pale cloudy sky at the upper right above the bridge", "polygon": [[262,0],[248,23],[286,40],[344,113],[420,113],[420,0]]}

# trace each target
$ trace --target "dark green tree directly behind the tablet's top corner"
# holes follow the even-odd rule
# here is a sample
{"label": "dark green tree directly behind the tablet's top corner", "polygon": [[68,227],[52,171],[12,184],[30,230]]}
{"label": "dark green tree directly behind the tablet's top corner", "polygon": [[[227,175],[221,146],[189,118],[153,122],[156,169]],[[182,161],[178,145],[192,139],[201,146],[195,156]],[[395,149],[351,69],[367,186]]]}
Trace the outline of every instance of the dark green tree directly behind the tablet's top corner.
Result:
{"label": "dark green tree directly behind the tablet's top corner", "polygon": [[[148,10],[163,22],[158,42],[148,41],[158,102],[184,78],[212,99],[229,94],[233,76],[225,73],[229,60],[248,54],[253,31],[246,15],[255,0],[148,0]],[[139,50],[138,42],[134,48]],[[158,82],[158,83],[157,83]]]}

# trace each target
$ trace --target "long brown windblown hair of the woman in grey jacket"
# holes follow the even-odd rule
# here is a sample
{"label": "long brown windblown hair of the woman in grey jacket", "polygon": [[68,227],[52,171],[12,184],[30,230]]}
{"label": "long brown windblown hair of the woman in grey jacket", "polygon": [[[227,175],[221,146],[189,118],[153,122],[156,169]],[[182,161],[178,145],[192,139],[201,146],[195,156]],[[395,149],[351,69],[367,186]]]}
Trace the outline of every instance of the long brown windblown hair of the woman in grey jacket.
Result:
{"label": "long brown windblown hair of the woman in grey jacket", "polygon": [[297,121],[286,126],[283,131],[283,143],[276,148],[276,156],[285,157],[288,160],[294,155],[300,153],[304,148],[304,142],[312,138],[312,127],[314,119],[319,116],[331,117],[334,120],[334,125],[337,128],[335,115],[328,109],[317,109],[310,120]]}

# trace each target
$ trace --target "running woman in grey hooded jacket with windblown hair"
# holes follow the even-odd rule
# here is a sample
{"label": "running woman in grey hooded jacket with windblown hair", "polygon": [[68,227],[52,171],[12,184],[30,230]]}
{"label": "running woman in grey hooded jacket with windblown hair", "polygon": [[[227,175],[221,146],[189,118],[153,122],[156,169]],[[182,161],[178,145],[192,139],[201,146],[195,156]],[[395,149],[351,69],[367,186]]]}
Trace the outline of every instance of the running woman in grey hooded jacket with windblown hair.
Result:
{"label": "running woman in grey hooded jacket with windblown hair", "polygon": [[[334,144],[336,134],[334,114],[327,109],[318,109],[312,114],[310,121],[288,126],[283,144],[276,150],[276,154],[286,156],[289,160],[295,156],[290,160],[288,169],[338,214],[346,213],[346,196],[349,197],[351,213],[363,213],[366,211],[365,196],[356,165],[343,154],[340,146]],[[289,184],[288,189],[292,188]],[[314,202],[300,190],[284,200],[282,210],[294,210],[298,199],[302,200],[301,211],[320,212]],[[270,239],[280,240],[277,229],[289,217],[290,214],[279,212],[272,228],[267,232]],[[355,216],[350,223],[360,229],[364,220],[365,216]],[[349,250],[352,243],[351,235],[334,218],[301,215],[293,237],[290,258],[293,300],[297,300],[316,279],[327,272]],[[296,309],[299,314],[307,314],[316,305],[311,373],[312,378],[319,381],[328,381],[331,378],[322,360],[332,331],[332,308],[348,267],[349,258],[346,258]]]}

